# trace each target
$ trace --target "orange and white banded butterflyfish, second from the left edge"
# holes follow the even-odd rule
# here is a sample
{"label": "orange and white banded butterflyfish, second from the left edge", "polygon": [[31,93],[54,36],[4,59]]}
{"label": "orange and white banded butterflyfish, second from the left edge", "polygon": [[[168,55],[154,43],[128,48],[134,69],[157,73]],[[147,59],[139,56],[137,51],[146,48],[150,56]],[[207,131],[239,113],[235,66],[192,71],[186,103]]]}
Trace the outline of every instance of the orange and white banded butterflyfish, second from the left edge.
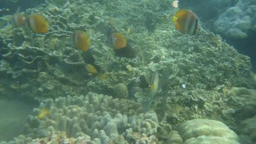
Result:
{"label": "orange and white banded butterflyfish, second from the left edge", "polygon": [[29,15],[25,20],[25,26],[34,33],[47,33],[49,30],[49,22],[43,15]]}

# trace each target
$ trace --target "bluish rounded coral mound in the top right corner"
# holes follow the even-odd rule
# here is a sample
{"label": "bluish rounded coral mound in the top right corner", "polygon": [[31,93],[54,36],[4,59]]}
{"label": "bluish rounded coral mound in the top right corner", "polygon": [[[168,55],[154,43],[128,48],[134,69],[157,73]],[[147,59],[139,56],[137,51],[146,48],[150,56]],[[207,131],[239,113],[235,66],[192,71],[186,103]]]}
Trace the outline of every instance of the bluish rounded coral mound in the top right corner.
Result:
{"label": "bluish rounded coral mound in the top right corner", "polygon": [[239,1],[214,22],[214,29],[228,38],[243,39],[256,27],[256,2]]}

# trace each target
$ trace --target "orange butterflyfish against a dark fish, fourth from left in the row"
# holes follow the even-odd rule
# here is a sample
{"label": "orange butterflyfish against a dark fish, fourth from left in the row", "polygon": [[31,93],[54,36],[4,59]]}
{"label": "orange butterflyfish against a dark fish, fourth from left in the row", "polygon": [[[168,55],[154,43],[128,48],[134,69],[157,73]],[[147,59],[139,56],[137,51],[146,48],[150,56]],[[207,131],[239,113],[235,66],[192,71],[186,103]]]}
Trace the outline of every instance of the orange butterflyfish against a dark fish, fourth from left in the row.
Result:
{"label": "orange butterflyfish against a dark fish, fourth from left in the row", "polygon": [[126,47],[127,40],[122,33],[115,32],[111,34],[111,43],[114,49],[122,49]]}

